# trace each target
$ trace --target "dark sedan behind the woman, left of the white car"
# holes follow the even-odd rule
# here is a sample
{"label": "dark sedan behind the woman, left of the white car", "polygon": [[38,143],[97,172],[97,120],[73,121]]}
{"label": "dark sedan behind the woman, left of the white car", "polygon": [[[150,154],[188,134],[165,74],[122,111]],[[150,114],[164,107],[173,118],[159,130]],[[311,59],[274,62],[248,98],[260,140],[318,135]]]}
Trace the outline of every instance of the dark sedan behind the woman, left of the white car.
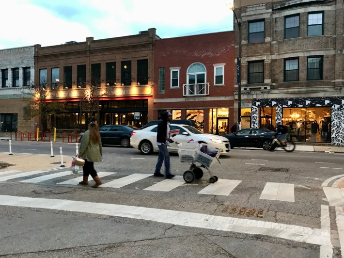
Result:
{"label": "dark sedan behind the woman, left of the white car", "polygon": [[[139,128],[126,125],[102,126],[99,128],[102,145],[122,145],[123,147],[129,147],[131,132],[134,130],[139,130]],[[83,132],[79,135],[81,136],[79,140],[80,142]]]}

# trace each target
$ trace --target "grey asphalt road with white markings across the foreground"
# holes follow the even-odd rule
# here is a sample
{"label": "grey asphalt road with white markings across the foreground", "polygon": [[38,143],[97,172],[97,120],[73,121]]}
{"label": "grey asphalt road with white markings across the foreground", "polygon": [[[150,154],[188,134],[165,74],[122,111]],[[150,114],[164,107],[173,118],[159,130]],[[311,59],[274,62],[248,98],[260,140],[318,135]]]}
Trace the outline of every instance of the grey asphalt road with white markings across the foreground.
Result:
{"label": "grey asphalt road with white markings across the foreground", "polygon": [[[8,145],[0,141],[0,152],[8,153]],[[63,143],[53,144],[54,155],[60,146],[63,155],[75,155],[75,144]],[[12,152],[48,159],[50,144],[14,141]],[[205,169],[203,178],[185,183],[189,167],[177,154],[171,170],[180,177],[170,184],[152,177],[157,153],[106,146],[103,158],[95,165],[104,172],[98,189],[63,183],[82,175],[22,182],[69,170],[58,164],[53,172],[6,181],[1,172],[9,168],[0,170],[0,255],[340,257],[336,207],[343,204],[328,200],[324,184],[341,189],[343,154],[235,148],[212,164],[211,174],[220,178],[215,184]]]}

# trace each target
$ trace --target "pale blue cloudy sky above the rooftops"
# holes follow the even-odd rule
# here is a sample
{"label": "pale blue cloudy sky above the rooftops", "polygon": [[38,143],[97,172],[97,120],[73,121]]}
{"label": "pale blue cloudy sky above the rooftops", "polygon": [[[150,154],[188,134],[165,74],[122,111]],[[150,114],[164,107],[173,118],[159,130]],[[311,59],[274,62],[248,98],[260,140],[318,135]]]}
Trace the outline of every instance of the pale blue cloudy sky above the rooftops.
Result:
{"label": "pale blue cloudy sky above the rooftops", "polygon": [[138,34],[161,38],[233,30],[230,0],[0,0],[0,49]]}

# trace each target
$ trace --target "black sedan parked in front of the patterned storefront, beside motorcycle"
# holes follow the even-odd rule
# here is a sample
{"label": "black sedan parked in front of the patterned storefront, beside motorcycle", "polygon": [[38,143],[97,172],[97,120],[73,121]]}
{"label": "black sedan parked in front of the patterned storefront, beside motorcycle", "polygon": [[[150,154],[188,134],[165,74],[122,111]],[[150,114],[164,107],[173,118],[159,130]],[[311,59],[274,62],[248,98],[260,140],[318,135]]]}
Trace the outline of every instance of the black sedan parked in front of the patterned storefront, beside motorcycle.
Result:
{"label": "black sedan parked in front of the patterned storefront, beside motorcycle", "polygon": [[231,134],[222,135],[226,137],[231,148],[234,147],[256,147],[269,150],[271,148],[274,131],[265,129],[241,129]]}

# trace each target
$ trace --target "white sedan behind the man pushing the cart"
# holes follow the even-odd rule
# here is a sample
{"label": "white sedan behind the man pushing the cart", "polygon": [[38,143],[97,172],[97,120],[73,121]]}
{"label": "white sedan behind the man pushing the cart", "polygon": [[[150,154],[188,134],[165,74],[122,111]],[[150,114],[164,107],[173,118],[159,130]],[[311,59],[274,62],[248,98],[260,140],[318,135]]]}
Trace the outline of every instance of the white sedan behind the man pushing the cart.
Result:
{"label": "white sedan behind the man pushing the cart", "polygon": [[[179,134],[173,137],[173,140],[178,143],[205,143],[215,148],[222,149],[222,154],[228,153],[230,150],[229,140],[225,137],[203,133],[200,130],[188,125],[170,126],[171,130],[179,129]],[[158,151],[156,145],[157,125],[150,126],[141,130],[134,130],[131,133],[130,145],[138,148],[142,154],[151,154],[153,151]],[[175,145],[168,147],[170,152],[177,152]]]}

